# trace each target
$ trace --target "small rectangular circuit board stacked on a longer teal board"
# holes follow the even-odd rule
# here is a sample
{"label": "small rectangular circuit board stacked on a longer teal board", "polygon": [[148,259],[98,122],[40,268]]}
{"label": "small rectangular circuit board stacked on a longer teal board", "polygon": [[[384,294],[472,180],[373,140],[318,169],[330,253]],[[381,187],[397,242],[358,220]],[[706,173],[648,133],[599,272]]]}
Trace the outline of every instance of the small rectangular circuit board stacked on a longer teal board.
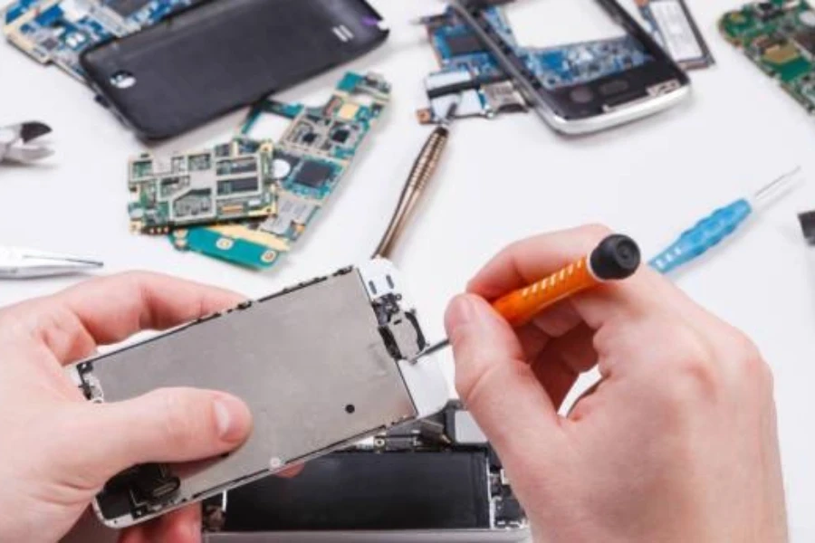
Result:
{"label": "small rectangular circuit board stacked on a longer teal board", "polygon": [[271,142],[241,139],[170,157],[140,155],[129,163],[130,228],[168,233],[180,226],[268,216],[272,179]]}

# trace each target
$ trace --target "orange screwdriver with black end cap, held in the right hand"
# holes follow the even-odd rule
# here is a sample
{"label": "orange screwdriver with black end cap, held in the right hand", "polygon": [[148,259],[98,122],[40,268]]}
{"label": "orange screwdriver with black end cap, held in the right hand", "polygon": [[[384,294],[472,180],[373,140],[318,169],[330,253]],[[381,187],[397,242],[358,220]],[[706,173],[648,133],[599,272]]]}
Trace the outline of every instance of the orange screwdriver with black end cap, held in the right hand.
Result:
{"label": "orange screwdriver with black end cap, held in the right hand", "polygon": [[[639,262],[637,243],[627,235],[612,234],[577,262],[572,262],[541,281],[495,300],[493,308],[513,328],[519,328],[558,301],[601,283],[630,277],[637,271]],[[424,349],[411,362],[449,346],[449,339],[440,341]]]}

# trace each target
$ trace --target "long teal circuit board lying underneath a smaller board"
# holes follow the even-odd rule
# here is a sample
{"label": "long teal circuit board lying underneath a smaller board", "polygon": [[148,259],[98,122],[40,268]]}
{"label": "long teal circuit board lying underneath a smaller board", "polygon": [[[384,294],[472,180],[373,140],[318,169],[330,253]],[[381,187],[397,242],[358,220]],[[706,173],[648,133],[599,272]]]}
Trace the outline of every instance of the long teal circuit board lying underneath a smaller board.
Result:
{"label": "long teal circuit board lying underneath a smaller board", "polygon": [[379,75],[349,72],[322,107],[274,100],[258,103],[239,140],[251,135],[264,114],[292,120],[273,146],[272,213],[237,224],[176,229],[171,233],[173,243],[181,250],[251,268],[272,266],[291,251],[326,205],[389,98],[390,84]]}

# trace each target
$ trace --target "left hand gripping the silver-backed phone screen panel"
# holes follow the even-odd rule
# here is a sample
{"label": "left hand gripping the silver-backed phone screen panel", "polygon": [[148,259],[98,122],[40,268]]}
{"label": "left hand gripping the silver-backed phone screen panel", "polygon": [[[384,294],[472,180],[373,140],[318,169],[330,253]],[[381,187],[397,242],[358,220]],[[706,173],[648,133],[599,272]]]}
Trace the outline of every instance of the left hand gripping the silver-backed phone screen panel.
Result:
{"label": "left hand gripping the silver-backed phone screen panel", "polygon": [[[235,306],[237,294],[148,273],[86,281],[0,310],[0,541],[57,541],[111,476],[137,463],[228,452],[251,415],[224,393],[165,389],[92,405],[62,367],[143,329]],[[122,532],[127,543],[200,540],[200,507]]]}

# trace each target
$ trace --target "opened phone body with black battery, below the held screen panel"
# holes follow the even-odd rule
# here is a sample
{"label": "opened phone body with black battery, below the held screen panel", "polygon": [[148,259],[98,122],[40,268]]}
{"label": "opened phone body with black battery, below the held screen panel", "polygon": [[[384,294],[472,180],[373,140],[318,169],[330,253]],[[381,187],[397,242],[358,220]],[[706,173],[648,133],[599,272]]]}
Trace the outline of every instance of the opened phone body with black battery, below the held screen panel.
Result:
{"label": "opened phone body with black battery, below the held screen panel", "polygon": [[472,415],[454,401],[308,462],[297,477],[266,478],[206,500],[206,540],[392,541],[398,534],[518,541],[529,530],[511,482]]}

